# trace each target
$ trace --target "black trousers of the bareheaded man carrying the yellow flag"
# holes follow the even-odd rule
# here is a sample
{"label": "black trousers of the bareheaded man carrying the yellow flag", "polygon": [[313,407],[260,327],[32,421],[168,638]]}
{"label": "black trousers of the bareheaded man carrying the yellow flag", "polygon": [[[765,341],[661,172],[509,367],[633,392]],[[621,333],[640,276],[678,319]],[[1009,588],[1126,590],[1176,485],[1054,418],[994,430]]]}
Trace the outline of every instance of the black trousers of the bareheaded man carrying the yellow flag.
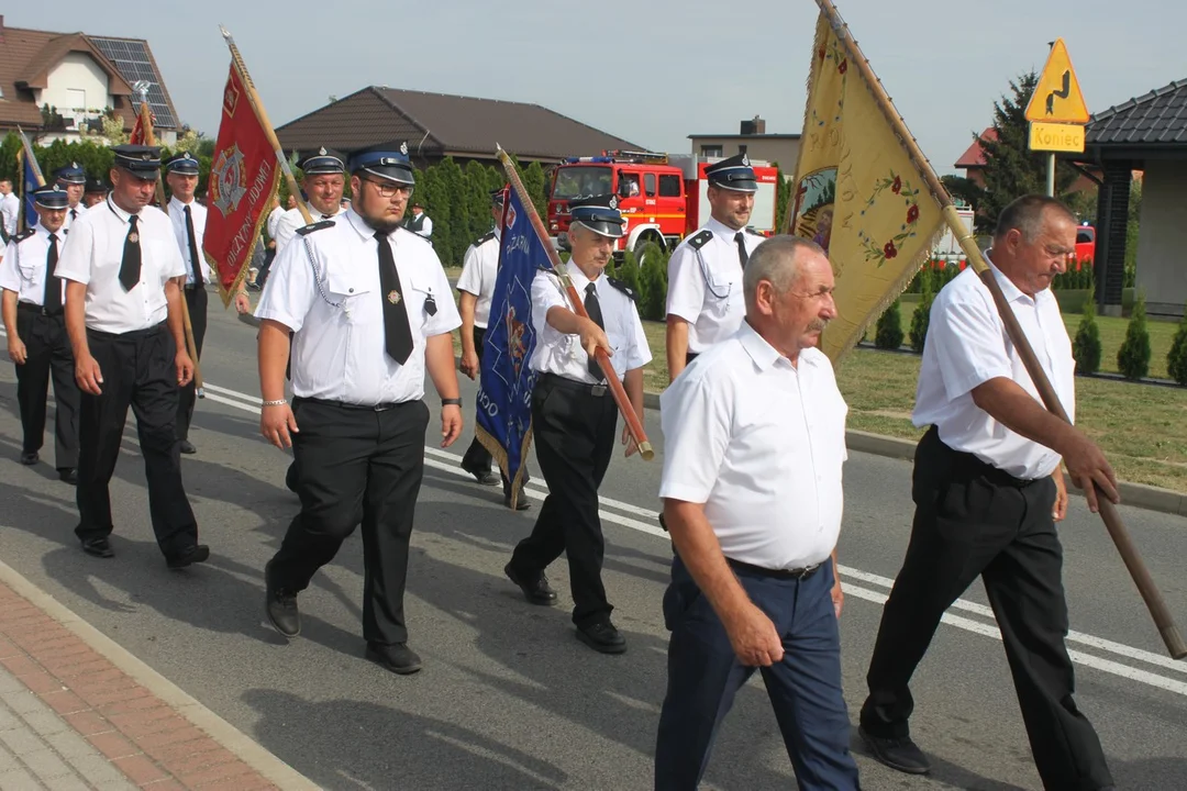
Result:
{"label": "black trousers of the bareheaded man carrying the yellow flag", "polygon": [[1050,515],[1055,484],[1049,478],[1021,481],[958,453],[933,427],[915,451],[912,496],[910,543],[882,611],[862,727],[883,738],[909,733],[910,677],[944,611],[979,575],[1043,786],[1111,786],[1100,740],[1073,700],[1074,671],[1064,644],[1062,548]]}

